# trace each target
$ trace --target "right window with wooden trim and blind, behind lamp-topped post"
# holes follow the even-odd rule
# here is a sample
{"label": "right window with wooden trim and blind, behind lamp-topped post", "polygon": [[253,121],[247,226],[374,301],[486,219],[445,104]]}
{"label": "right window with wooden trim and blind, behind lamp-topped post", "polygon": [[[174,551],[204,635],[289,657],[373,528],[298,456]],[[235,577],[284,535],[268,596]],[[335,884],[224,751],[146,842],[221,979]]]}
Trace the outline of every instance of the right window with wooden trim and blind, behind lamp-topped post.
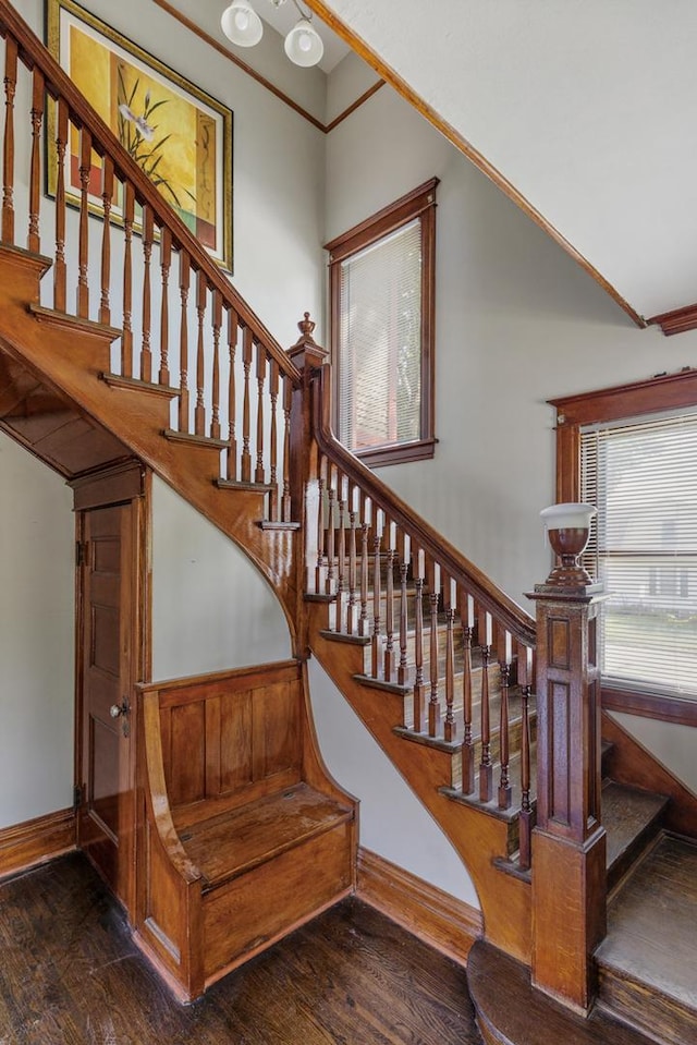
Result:
{"label": "right window with wooden trim and blind, behind lamp-topped post", "polygon": [[652,700],[658,707],[660,694],[694,707],[697,372],[552,405],[557,498],[598,508],[584,564],[609,596],[601,628],[603,694],[606,688],[634,691],[635,704],[624,709],[641,713]]}

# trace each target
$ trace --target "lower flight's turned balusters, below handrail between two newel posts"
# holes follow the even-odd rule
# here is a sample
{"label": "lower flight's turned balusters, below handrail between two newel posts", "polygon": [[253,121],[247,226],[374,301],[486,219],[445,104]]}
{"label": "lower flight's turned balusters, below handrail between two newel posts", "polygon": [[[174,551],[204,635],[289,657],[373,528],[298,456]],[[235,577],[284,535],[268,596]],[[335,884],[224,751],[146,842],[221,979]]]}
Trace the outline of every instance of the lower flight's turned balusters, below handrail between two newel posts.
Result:
{"label": "lower flight's turned balusters, below handrail between two newel posts", "polygon": [[417,527],[392,518],[355,472],[322,453],[317,486],[308,591],[333,597],[334,631],[369,639],[366,675],[404,692],[405,728],[461,752],[463,794],[521,811],[518,864],[529,867],[534,640],[485,605],[448,557],[419,544]]}

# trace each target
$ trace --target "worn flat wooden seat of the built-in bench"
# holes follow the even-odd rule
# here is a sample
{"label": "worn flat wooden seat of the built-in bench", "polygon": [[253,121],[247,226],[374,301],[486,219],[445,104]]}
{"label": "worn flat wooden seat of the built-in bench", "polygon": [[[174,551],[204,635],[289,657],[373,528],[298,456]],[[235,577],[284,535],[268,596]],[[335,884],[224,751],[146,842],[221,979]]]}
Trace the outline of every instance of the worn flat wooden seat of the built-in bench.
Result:
{"label": "worn flat wooden seat of the built-in bench", "polygon": [[307,783],[188,825],[181,842],[211,889],[353,815]]}

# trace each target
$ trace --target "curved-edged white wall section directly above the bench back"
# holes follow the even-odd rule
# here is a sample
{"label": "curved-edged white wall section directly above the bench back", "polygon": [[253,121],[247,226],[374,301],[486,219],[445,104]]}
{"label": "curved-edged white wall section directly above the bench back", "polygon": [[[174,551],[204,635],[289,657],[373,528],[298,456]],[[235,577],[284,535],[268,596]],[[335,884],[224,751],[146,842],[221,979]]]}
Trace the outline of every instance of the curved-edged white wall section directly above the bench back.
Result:
{"label": "curved-edged white wall section directly above the bench back", "polygon": [[250,560],[160,479],[152,485],[152,678],[291,655],[281,605]]}

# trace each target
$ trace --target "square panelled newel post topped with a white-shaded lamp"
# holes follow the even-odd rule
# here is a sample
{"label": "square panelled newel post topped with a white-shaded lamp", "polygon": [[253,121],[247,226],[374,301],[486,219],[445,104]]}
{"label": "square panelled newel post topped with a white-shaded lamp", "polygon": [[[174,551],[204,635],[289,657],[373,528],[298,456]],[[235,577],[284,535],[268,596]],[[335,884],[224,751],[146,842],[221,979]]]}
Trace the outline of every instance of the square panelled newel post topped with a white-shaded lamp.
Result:
{"label": "square panelled newel post topped with a white-shaded lamp", "polygon": [[530,594],[537,605],[533,983],[583,1013],[595,994],[591,956],[607,927],[597,663],[603,595],[577,562],[595,512],[555,505],[541,513],[561,562]]}

